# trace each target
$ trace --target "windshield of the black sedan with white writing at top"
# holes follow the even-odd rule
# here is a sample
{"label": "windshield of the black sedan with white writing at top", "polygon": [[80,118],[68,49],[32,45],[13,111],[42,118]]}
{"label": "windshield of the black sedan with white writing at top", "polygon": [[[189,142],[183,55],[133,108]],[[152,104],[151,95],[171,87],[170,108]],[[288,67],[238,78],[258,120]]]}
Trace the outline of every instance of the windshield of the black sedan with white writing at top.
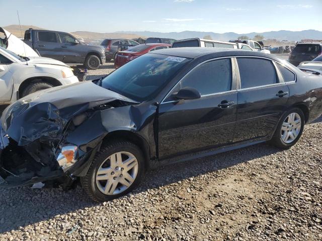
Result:
{"label": "windshield of the black sedan with white writing at top", "polygon": [[139,102],[150,100],[191,59],[162,54],[144,54],[102,80],[102,87]]}

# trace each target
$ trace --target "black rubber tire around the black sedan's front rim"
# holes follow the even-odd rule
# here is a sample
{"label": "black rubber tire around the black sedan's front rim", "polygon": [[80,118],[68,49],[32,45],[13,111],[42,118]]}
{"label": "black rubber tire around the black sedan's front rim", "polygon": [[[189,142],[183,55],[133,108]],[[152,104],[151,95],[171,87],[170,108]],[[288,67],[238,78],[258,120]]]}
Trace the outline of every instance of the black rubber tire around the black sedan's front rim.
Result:
{"label": "black rubber tire around the black sedan's front rim", "polygon": [[[107,160],[108,157],[117,153],[117,152],[128,152],[134,155],[137,160],[138,168],[137,175],[133,183],[124,191],[121,191],[118,194],[108,195],[101,192],[97,186],[96,174],[101,165]],[[112,170],[112,169],[111,169]],[[114,170],[114,169],[113,169]],[[81,183],[84,191],[96,202],[103,202],[112,200],[125,194],[131,192],[137,187],[140,183],[142,176],[144,174],[144,158],[141,150],[135,144],[128,141],[115,141],[112,143],[107,143],[104,146],[102,145],[99,152],[94,157],[94,160],[86,174],[86,176],[81,177]],[[112,173],[111,173],[112,174]],[[106,174],[111,176],[111,174]],[[116,173],[115,173],[116,175]],[[119,184],[117,184],[119,185]],[[116,188],[117,189],[117,188]]]}

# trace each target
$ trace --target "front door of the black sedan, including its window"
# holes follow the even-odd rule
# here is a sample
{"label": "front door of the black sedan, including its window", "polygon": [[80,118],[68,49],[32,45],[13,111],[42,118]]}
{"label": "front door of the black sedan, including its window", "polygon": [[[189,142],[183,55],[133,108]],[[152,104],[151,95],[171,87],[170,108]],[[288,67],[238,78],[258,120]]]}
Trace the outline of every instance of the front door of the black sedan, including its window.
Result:
{"label": "front door of the black sedan, including its window", "polygon": [[[194,68],[158,109],[159,159],[208,150],[231,143],[236,118],[237,91],[230,58]],[[197,89],[201,98],[175,100],[183,87]]]}

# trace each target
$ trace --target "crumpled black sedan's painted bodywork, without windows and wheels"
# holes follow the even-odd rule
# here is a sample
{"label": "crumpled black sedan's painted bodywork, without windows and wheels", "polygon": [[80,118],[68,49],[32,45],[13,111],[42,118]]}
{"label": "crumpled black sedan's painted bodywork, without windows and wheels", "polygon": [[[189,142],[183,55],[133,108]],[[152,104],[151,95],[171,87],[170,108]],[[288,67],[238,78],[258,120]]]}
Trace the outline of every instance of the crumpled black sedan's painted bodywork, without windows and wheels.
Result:
{"label": "crumpled black sedan's painted bodywork, without windows and wheels", "polygon": [[[0,126],[0,176],[6,185],[84,176],[101,144],[119,138],[135,141],[147,167],[155,168],[268,141],[282,114],[292,106],[303,110],[306,122],[322,113],[322,78],[286,64],[296,79],[284,82],[276,66],[283,62],[273,55],[216,48],[163,49],[150,55],[154,54],[192,61],[153,99],[137,102],[101,87],[96,80],[36,92],[8,106]],[[276,62],[278,82],[240,89],[235,58],[243,57]],[[199,99],[171,99],[171,91],[191,70],[218,58],[231,59],[229,91]],[[280,91],[285,95],[278,96]],[[227,102],[229,107],[222,108]],[[78,147],[77,162],[63,172],[56,157],[67,144]]]}

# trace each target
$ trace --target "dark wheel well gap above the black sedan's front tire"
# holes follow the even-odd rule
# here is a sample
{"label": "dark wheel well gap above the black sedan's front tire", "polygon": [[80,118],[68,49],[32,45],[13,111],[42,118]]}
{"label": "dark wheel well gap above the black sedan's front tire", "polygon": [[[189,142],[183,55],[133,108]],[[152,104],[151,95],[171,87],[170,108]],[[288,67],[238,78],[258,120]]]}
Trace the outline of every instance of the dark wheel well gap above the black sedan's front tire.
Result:
{"label": "dark wheel well gap above the black sedan's front tire", "polygon": [[103,143],[108,142],[110,140],[124,140],[124,141],[129,141],[134,143],[141,149],[143,153],[145,167],[149,166],[149,160],[150,160],[149,146],[142,137],[129,131],[114,131],[106,135],[106,137],[103,140]]}

